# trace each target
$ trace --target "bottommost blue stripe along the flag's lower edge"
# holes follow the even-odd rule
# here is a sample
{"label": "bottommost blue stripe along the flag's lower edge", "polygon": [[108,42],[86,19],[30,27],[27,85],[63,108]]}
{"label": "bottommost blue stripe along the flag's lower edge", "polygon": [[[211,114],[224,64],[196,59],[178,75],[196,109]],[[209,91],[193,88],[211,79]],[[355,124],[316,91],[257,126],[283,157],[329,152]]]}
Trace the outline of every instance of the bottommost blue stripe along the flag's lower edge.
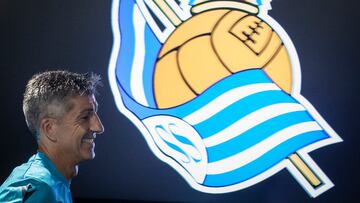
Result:
{"label": "bottommost blue stripe along the flag's lower edge", "polygon": [[324,131],[298,135],[241,168],[224,174],[207,175],[203,184],[210,187],[219,187],[246,181],[270,169],[298,149],[328,137]]}

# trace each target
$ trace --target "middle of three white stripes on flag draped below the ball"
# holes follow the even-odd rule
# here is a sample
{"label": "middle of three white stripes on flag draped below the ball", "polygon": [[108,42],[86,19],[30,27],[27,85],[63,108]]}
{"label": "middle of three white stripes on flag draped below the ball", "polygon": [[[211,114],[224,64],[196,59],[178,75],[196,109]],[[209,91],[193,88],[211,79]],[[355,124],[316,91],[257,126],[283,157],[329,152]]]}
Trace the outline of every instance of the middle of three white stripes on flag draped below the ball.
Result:
{"label": "middle of three white stripes on flag draped below the ball", "polygon": [[246,132],[247,130],[259,125],[269,119],[275,118],[276,116],[295,112],[295,111],[305,111],[305,108],[297,103],[280,103],[266,106],[257,111],[254,111],[242,119],[236,121],[229,127],[223,129],[222,131],[211,135],[208,138],[204,139],[206,147],[212,147],[228,140],[233,139]]}

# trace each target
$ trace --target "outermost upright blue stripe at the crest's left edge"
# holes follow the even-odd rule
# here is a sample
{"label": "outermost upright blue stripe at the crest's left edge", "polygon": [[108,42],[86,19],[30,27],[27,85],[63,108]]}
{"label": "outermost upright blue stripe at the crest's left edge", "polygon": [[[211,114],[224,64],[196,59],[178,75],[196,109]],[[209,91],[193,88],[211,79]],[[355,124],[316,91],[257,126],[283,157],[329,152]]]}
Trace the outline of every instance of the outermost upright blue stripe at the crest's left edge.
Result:
{"label": "outermost upright blue stripe at the crest's left edge", "polygon": [[116,77],[123,89],[131,95],[130,73],[134,58],[135,31],[133,25],[134,1],[120,1],[119,28],[121,44],[116,61]]}

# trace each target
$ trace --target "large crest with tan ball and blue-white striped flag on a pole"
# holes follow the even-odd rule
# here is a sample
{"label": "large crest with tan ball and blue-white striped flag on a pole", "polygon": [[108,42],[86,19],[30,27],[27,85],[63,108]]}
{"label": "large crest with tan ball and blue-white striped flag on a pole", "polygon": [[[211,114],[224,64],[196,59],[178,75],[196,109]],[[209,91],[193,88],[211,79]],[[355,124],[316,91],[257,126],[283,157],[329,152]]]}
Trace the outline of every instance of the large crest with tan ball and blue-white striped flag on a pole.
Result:
{"label": "large crest with tan ball and blue-white striped flag on a pole", "polygon": [[150,149],[196,190],[241,190],[286,168],[333,186],[308,155],[342,139],[300,94],[270,0],[114,0],[109,80]]}

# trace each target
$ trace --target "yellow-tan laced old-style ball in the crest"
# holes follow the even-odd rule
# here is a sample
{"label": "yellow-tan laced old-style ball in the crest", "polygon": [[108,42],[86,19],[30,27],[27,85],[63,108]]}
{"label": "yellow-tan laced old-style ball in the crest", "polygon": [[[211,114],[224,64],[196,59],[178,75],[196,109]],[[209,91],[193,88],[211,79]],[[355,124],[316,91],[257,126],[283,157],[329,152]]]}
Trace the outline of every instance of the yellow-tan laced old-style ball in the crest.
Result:
{"label": "yellow-tan laced old-style ball in the crest", "polygon": [[278,34],[256,15],[216,9],[194,15],[164,43],[154,73],[159,108],[181,105],[233,73],[263,68],[291,92],[291,63]]}

